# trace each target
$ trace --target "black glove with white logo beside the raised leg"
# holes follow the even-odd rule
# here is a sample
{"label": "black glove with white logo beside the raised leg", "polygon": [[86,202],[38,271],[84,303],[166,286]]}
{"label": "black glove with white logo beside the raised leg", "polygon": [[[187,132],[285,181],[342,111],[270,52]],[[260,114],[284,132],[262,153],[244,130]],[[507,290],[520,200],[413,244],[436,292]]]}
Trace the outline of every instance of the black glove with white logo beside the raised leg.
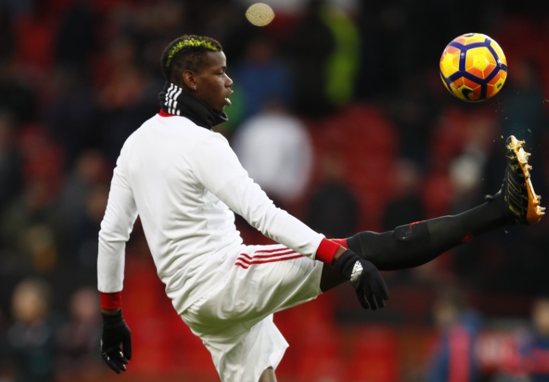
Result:
{"label": "black glove with white logo beside the raised leg", "polygon": [[346,250],[334,260],[336,267],[355,287],[360,305],[375,310],[385,306],[389,298],[387,286],[379,271],[370,261]]}

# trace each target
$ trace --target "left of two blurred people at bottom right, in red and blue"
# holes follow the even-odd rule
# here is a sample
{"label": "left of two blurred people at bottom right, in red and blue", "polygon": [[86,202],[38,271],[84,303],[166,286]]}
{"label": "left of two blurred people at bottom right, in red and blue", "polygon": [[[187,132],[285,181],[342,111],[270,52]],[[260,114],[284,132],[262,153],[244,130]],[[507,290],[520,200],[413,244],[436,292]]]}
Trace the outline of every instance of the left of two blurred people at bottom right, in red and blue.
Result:
{"label": "left of two blurred people at bottom right, in red and blue", "polygon": [[439,291],[432,315],[439,333],[425,382],[480,381],[475,351],[480,315],[467,306],[463,292],[454,288]]}

